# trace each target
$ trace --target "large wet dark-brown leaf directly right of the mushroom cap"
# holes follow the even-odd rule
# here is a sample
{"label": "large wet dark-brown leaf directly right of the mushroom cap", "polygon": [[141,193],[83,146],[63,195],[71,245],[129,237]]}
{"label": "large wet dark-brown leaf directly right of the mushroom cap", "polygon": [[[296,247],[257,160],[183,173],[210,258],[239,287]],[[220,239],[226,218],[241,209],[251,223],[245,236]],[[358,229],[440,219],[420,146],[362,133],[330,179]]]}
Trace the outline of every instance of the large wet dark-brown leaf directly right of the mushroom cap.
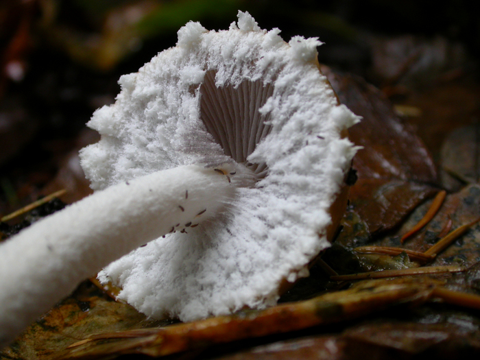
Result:
{"label": "large wet dark-brown leaf directly right of the mushroom cap", "polygon": [[350,139],[363,146],[353,163],[359,178],[350,189],[350,203],[372,234],[389,230],[436,193],[433,159],[381,91],[358,77],[322,71],[341,103],[363,117],[349,130]]}

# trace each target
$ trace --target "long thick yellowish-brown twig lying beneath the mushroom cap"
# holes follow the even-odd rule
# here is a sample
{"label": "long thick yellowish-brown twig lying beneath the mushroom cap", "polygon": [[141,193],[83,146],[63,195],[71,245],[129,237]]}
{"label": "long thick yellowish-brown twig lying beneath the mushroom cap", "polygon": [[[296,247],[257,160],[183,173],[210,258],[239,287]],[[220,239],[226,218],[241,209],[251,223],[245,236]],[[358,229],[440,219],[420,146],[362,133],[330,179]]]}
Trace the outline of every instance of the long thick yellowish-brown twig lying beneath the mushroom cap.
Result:
{"label": "long thick yellowish-brown twig lying beneath the mushroom cap", "polygon": [[429,299],[435,285],[436,282],[432,279],[366,281],[344,291],[264,310],[209,317],[206,320],[162,328],[91,335],[88,339],[71,344],[62,353],[57,353],[56,359],[103,359],[108,355],[118,355],[118,346],[121,346],[122,354],[160,357],[202,349],[205,344],[225,344],[298,331],[311,326],[365,317],[399,303],[420,304]]}

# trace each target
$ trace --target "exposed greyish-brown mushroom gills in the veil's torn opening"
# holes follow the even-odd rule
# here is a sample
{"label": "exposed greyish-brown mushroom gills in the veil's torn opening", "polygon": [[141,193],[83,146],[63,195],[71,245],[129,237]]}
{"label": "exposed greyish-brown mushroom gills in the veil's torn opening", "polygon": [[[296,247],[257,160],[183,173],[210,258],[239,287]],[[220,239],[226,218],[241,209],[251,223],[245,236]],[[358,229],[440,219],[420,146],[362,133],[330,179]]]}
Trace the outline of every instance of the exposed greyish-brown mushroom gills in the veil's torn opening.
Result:
{"label": "exposed greyish-brown mushroom gills in the veil's torn opening", "polygon": [[244,80],[235,87],[215,85],[215,70],[206,71],[200,86],[200,119],[224,153],[254,173],[256,180],[267,175],[267,164],[250,163],[248,156],[272,129],[269,114],[259,109],[274,93],[271,83]]}

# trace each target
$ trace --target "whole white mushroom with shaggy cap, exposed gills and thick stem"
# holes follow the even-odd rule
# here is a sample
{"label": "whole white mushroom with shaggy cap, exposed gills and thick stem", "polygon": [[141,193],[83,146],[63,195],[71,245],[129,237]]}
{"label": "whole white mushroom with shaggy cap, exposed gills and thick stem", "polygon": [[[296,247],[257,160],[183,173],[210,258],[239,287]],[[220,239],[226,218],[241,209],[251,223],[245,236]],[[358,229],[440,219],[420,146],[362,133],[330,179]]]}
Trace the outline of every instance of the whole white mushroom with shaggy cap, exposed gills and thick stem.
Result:
{"label": "whole white mushroom with shaggy cap, exposed gills and thick stem", "polygon": [[279,32],[247,12],[228,31],[189,22],[120,78],[81,151],[96,192],[0,246],[0,344],[104,266],[119,298],[182,321],[276,304],[308,276],[346,206],[358,117],[321,43]]}

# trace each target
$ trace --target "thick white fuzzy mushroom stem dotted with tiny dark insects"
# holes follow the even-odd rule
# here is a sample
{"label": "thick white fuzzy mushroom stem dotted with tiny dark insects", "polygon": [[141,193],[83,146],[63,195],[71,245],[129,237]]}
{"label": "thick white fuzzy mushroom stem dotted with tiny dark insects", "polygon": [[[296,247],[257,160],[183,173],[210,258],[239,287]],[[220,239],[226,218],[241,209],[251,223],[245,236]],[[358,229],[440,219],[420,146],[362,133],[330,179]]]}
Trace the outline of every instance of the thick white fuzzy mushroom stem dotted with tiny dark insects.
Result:
{"label": "thick white fuzzy mushroom stem dotted with tiny dark insects", "polygon": [[177,167],[99,191],[5,241],[0,348],[85,278],[177,224],[208,219],[234,194],[214,169]]}

